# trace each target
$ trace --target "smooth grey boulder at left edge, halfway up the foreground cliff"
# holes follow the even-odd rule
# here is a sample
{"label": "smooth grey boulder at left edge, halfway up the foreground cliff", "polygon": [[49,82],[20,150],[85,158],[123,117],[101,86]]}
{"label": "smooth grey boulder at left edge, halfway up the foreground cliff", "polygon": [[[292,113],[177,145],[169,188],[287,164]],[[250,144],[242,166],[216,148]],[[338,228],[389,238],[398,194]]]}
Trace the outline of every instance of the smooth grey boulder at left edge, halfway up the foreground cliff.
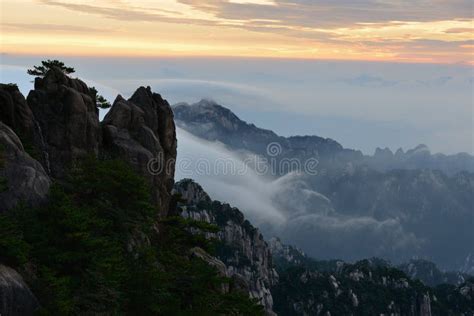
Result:
{"label": "smooth grey boulder at left edge, halfway up the foreground cliff", "polygon": [[37,205],[46,199],[51,180],[28,155],[18,136],[0,122],[0,213],[20,201]]}

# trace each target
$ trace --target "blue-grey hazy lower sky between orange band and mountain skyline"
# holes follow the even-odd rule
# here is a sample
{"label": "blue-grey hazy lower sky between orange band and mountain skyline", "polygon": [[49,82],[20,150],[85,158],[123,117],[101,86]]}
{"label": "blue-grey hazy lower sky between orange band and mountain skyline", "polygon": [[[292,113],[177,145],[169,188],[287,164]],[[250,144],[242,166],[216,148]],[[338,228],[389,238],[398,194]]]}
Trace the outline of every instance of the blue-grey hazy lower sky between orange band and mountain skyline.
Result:
{"label": "blue-grey hazy lower sky between orange band and mountain skyline", "polygon": [[[170,104],[212,99],[283,136],[319,135],[373,154],[427,145],[474,154],[472,66],[263,58],[59,58],[113,102],[151,86]],[[0,82],[33,88],[44,56],[0,56]]]}

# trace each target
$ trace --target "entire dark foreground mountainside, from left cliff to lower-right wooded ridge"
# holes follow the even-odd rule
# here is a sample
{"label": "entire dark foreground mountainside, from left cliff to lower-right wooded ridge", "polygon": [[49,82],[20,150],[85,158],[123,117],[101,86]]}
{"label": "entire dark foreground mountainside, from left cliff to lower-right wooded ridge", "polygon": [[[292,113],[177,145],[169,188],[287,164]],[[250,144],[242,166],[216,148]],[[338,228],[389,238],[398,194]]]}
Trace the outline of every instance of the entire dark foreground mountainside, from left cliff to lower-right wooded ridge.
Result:
{"label": "entire dark foreground mountainside, from left cliff to lower-right wooded ridge", "polygon": [[239,209],[175,183],[159,94],[119,95],[102,122],[96,97],[55,67],[26,99],[0,85],[1,315],[472,313],[470,279],[433,288],[383,260],[267,242]]}

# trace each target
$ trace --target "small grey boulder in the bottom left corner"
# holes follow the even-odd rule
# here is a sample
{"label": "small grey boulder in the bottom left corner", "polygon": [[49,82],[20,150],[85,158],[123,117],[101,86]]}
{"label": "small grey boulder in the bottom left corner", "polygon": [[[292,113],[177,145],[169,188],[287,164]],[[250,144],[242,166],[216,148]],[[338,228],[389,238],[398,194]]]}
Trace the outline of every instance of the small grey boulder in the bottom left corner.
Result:
{"label": "small grey boulder in the bottom left corner", "polygon": [[39,304],[18,272],[0,264],[0,315],[34,315]]}

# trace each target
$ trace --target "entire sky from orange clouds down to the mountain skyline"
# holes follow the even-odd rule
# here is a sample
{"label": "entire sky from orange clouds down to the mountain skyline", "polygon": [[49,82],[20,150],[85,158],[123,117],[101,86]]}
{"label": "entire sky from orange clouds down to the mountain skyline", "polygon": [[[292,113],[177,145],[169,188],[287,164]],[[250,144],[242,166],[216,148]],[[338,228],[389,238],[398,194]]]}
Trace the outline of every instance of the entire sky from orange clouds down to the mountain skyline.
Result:
{"label": "entire sky from orange clouds down to the mountain skyline", "polygon": [[150,85],[284,135],[474,153],[464,0],[0,0],[2,82],[55,58],[111,101]]}

